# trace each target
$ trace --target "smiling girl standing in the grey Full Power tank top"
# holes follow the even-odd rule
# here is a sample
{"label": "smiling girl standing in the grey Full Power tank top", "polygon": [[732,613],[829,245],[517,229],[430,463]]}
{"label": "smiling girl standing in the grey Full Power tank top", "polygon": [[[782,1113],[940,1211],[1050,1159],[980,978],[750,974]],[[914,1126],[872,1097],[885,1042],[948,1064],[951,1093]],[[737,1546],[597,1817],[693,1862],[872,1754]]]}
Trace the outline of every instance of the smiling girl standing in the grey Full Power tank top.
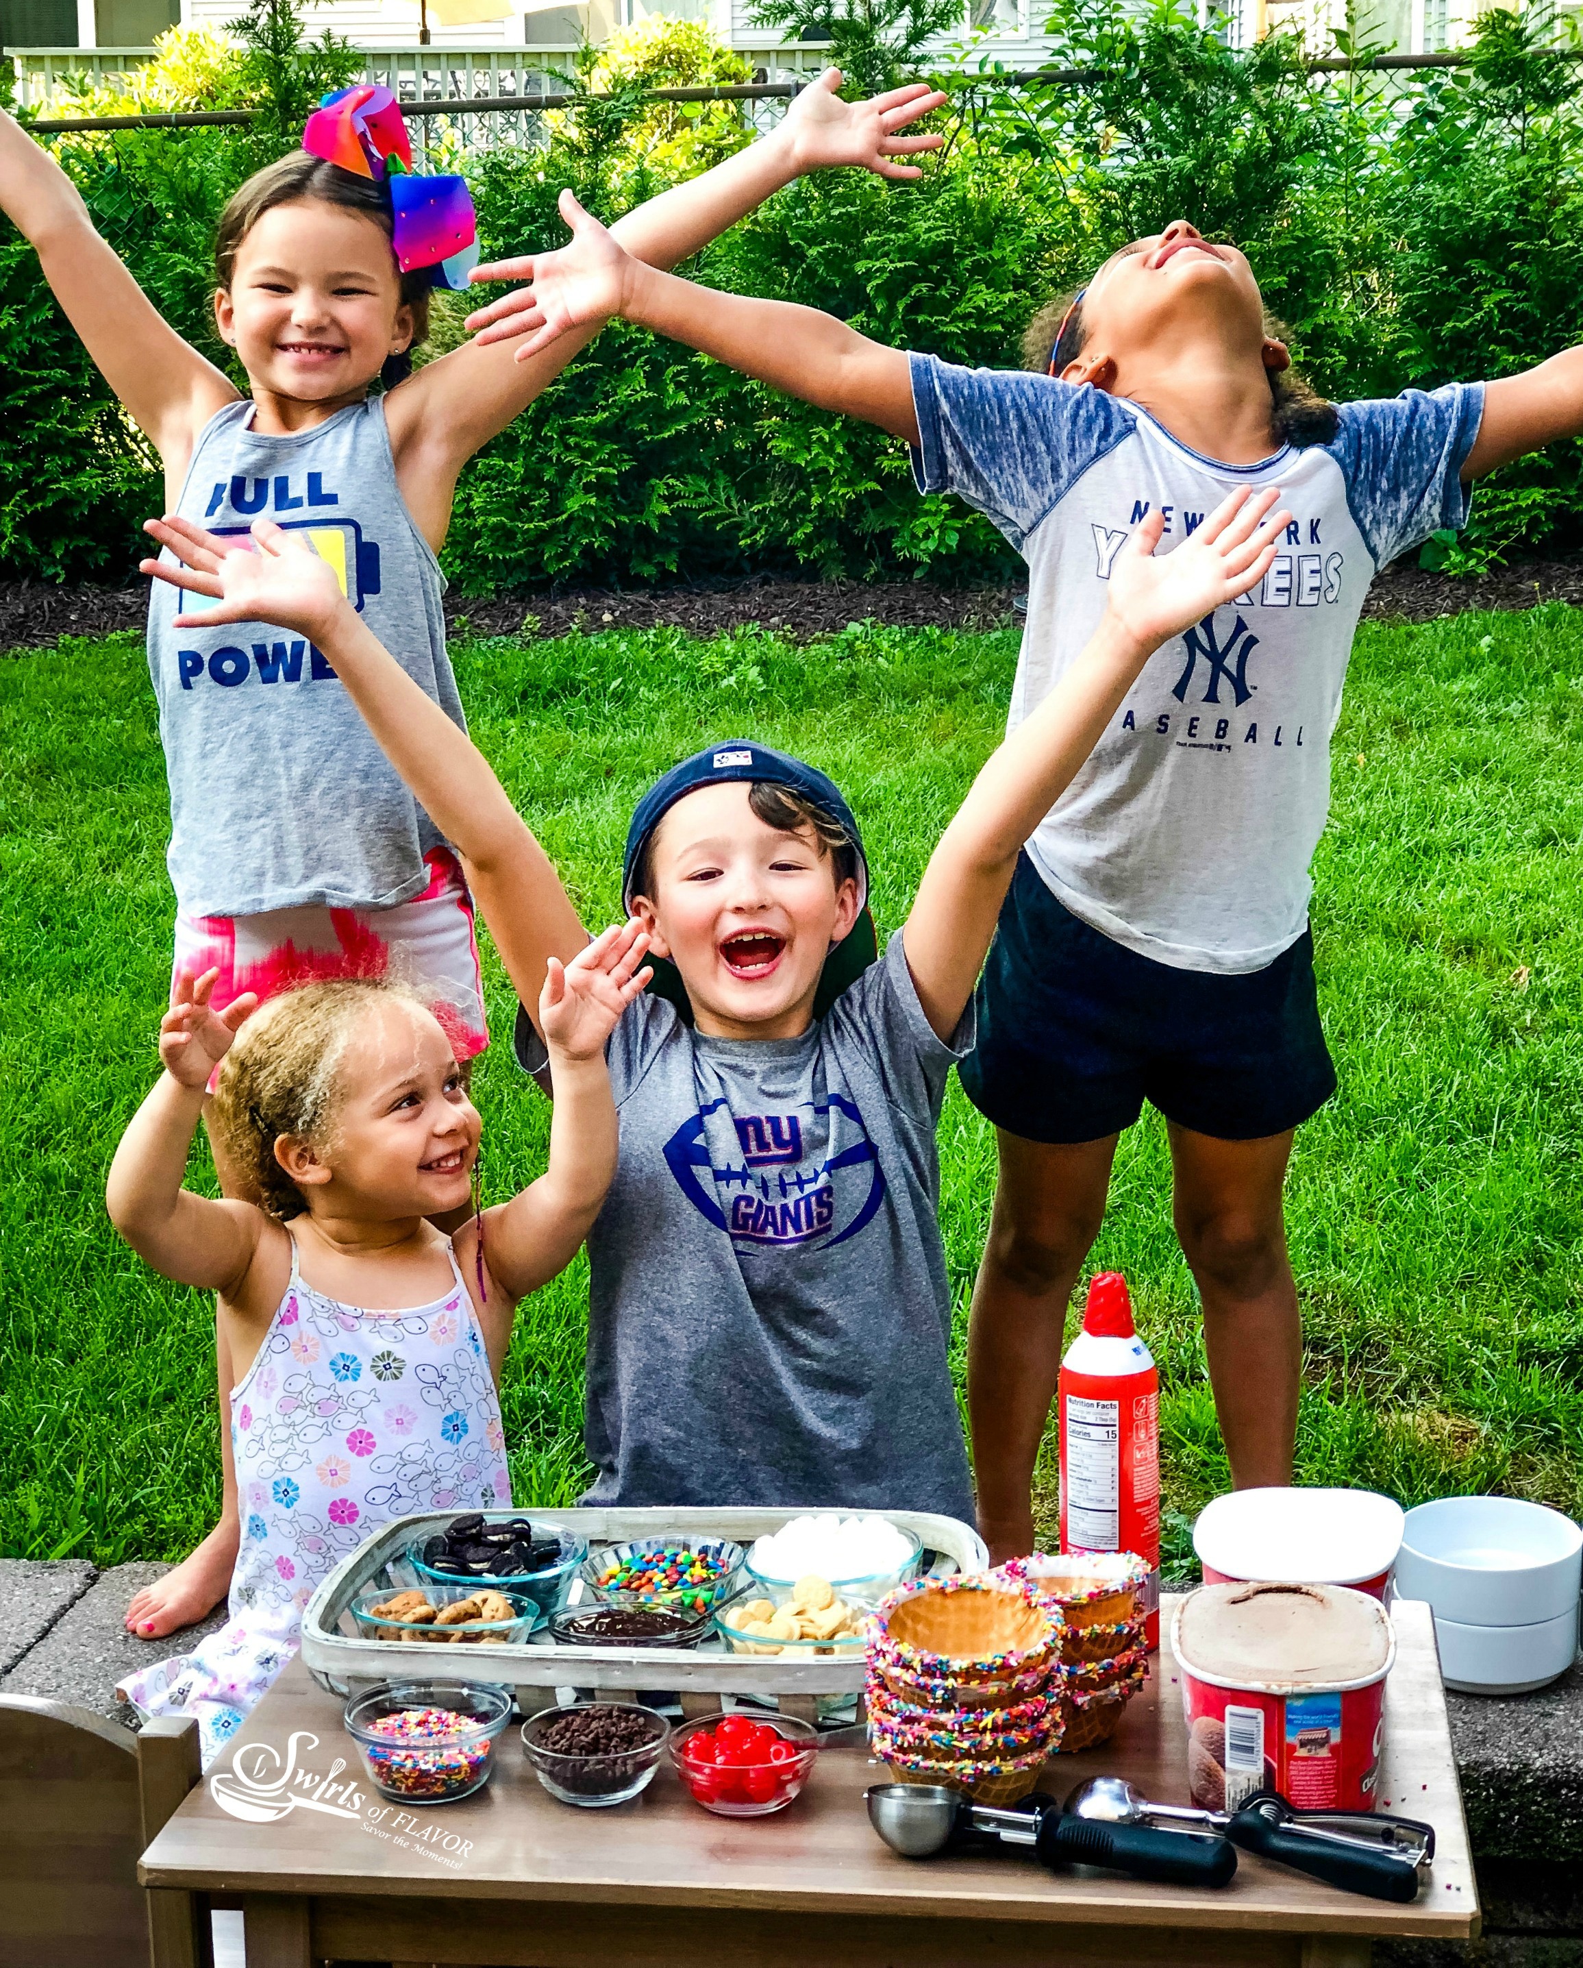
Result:
{"label": "smiling girl standing in the grey Full Power tank top", "polygon": [[[682,260],[802,171],[916,177],[899,159],[940,138],[895,132],[944,96],[914,85],[848,104],[840,81],[828,71],[771,136],[623,218],[631,250]],[[159,317],[71,179],[4,112],[0,211],[157,449],[167,508],[218,535],[246,537],[258,516],[305,533],[401,669],[462,726],[437,559],[456,478],[592,333],[531,362],[464,344],[409,374],[433,276],[397,266],[389,181],[297,150],[240,187],[214,240],[214,323],[246,372],[244,396]],[[511,276],[509,264],[476,270]],[[173,976],[218,970],[218,1014],[246,992],[265,1000],[389,972],[470,1061],[488,1035],[472,899],[444,834],[309,638],[269,622],[183,630],[175,614],[155,586],[147,640],[171,789]],[[226,1195],[256,1200],[248,1173],[212,1145]],[[234,1385],[226,1332],[220,1317],[222,1415]],[[230,1584],[240,1531],[226,1431],[220,1441],[220,1523],[132,1602],[126,1624],[142,1639],[199,1620]]]}

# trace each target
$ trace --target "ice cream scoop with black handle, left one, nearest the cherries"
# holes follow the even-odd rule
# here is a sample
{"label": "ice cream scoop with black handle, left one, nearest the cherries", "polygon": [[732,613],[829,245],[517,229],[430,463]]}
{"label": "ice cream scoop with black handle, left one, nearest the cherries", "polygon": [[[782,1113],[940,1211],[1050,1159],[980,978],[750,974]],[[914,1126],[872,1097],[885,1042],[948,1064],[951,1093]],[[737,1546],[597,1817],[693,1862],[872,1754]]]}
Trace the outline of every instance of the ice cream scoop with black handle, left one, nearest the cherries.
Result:
{"label": "ice cream scoop with black handle, left one, nearest the cherries", "polygon": [[932,1858],[979,1836],[1028,1846],[1052,1870],[1103,1866],[1158,1885],[1225,1885],[1237,1872],[1237,1852],[1225,1838],[1091,1824],[1052,1809],[991,1811],[934,1783],[875,1783],[863,1799],[869,1822],[903,1858]]}

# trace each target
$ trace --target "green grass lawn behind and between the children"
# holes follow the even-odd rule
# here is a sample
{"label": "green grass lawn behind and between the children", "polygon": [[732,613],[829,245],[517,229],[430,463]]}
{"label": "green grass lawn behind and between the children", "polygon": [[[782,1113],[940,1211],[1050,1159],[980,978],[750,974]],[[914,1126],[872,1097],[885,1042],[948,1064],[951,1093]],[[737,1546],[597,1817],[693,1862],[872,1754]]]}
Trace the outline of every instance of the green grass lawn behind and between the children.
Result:
{"label": "green grass lawn behind and between the children", "polygon": [[[456,646],[474,732],[590,921],[616,911],[637,791],[749,732],[846,787],[893,929],[999,734],[1013,663],[1009,634],[889,630],[808,649],[663,630]],[[0,1551],[173,1559],[218,1506],[210,1307],[146,1271],[102,1208],[157,1069],[169,966],[140,640],[0,663]],[[1581,777],[1583,614],[1359,636],[1316,870],[1341,1092],[1302,1130],[1290,1183],[1306,1482],[1583,1506]],[[511,1002],[490,962],[503,1041]],[[476,1098],[498,1197],[543,1167],[547,1110],[503,1043]],[[954,1082],[940,1149],[960,1342],[995,1163]],[[1227,1478],[1154,1118],[1123,1143],[1093,1261],[1127,1271],[1160,1360],[1180,1559],[1186,1515]],[[584,1305],[578,1261],[519,1319],[503,1403],[525,1504],[566,1502],[584,1474]]]}

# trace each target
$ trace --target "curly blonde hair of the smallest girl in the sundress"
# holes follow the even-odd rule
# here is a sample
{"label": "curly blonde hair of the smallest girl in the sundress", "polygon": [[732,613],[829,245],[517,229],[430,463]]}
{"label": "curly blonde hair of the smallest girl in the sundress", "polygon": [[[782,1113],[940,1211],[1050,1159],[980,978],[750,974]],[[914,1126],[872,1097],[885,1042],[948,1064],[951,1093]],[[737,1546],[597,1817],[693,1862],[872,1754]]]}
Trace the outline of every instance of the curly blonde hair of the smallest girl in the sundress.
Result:
{"label": "curly blonde hair of the smallest girl in the sundress", "polygon": [[295,1136],[326,1145],[344,1086],[346,1047],[389,1000],[421,1006],[391,978],[336,978],[281,992],[242,1025],[220,1063],[214,1128],[230,1161],[258,1183],[260,1206],[277,1222],[307,1210],[307,1197],[275,1161],[275,1141]]}

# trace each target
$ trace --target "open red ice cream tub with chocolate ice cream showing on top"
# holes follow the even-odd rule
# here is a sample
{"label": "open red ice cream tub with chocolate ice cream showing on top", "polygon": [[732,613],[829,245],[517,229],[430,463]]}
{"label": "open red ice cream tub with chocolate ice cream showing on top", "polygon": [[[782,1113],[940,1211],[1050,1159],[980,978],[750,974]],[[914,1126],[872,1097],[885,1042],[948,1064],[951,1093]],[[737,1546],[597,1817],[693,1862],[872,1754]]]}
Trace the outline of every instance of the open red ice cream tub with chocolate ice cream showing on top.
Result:
{"label": "open red ice cream tub with chocolate ice cream showing on top", "polygon": [[1188,1718],[1188,1789],[1205,1811],[1280,1791],[1298,1811],[1373,1811],[1396,1635],[1367,1592],[1211,1584],[1170,1633]]}

